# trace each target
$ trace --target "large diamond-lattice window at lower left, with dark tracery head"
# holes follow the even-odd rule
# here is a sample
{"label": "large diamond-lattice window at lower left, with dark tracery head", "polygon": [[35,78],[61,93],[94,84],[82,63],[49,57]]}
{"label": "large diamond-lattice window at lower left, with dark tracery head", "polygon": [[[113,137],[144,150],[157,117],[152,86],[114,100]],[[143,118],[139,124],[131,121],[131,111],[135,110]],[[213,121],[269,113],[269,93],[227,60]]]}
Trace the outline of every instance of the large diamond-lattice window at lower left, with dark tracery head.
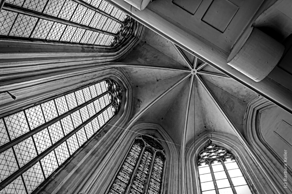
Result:
{"label": "large diamond-lattice window at lower left, with dark tracery head", "polygon": [[0,193],[31,193],[119,111],[114,80],[0,119]]}

